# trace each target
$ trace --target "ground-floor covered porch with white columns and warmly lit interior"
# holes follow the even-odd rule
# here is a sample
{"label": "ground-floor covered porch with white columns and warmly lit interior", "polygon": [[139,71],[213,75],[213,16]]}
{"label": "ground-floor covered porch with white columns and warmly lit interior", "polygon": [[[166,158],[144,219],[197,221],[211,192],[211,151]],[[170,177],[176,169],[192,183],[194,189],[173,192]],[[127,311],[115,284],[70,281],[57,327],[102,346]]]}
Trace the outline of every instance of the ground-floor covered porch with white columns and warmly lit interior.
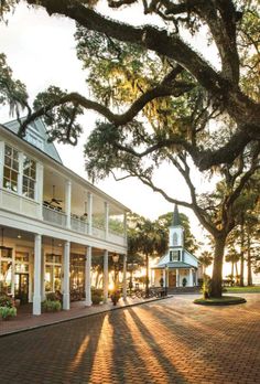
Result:
{"label": "ground-floor covered porch with white columns and warmly lit interior", "polygon": [[[82,307],[91,306],[93,260],[102,263],[104,302],[108,299],[109,258],[117,254],[123,264],[122,291],[126,297],[127,255],[98,247],[98,244],[80,244],[71,238],[57,238],[12,227],[1,227],[0,294],[32,303],[33,314],[42,313],[42,301],[50,292],[61,292],[63,309],[71,309],[71,301]],[[106,247],[106,244],[104,244]],[[110,276],[111,278],[111,276]],[[19,309],[20,310],[20,309]]]}

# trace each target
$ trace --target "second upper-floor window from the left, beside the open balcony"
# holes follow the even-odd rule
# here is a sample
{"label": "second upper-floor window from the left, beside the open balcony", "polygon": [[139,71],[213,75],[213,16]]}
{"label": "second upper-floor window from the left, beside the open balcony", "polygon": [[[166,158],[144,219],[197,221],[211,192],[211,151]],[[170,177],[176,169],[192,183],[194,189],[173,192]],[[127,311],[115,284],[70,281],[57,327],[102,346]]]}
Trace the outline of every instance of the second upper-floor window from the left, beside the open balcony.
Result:
{"label": "second upper-floor window from the left, beside the open balcony", "polygon": [[35,198],[35,180],[36,180],[36,162],[26,156],[23,157],[23,180],[22,194],[23,196]]}

